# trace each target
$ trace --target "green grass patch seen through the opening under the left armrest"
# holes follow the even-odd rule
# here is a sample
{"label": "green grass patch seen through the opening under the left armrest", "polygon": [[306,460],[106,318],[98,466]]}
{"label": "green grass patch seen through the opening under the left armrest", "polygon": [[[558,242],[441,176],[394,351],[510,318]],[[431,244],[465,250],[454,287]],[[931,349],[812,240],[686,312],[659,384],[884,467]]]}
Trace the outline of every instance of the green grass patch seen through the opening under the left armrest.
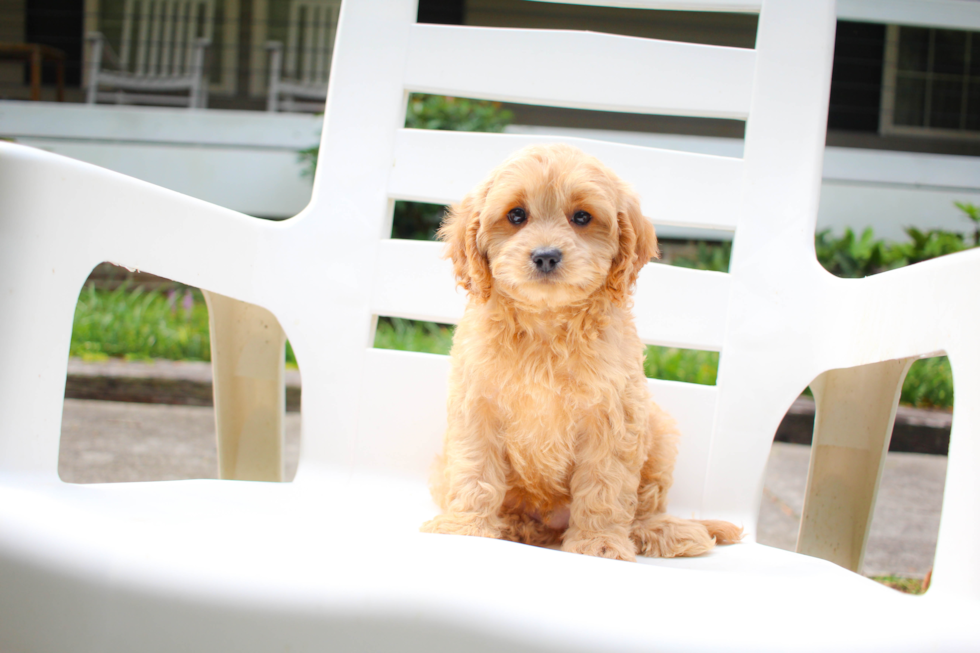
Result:
{"label": "green grass patch seen through the opening under the left armrest", "polygon": [[75,307],[71,355],[210,360],[208,309],[197,290],[87,286]]}

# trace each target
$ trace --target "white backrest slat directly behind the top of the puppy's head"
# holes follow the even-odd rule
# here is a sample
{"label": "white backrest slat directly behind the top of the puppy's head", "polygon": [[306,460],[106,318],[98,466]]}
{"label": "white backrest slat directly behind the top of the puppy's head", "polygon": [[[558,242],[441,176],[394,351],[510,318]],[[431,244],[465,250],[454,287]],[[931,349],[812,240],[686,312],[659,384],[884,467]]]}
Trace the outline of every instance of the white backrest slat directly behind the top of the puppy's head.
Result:
{"label": "white backrest slat directly behind the top of the puppy's head", "polygon": [[619,173],[640,194],[644,215],[654,224],[735,229],[742,159],[582,138],[402,129],[396,135],[388,195],[458,202],[508,156],[525,145],[547,142],[575,145]]}

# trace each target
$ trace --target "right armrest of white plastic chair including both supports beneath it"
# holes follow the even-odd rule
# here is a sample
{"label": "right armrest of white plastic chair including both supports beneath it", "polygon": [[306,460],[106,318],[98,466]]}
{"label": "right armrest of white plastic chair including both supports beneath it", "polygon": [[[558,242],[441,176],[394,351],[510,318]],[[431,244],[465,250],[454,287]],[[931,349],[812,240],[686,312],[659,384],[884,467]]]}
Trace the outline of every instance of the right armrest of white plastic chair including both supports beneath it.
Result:
{"label": "right armrest of white plastic chair including both supports beneath it", "polygon": [[[812,384],[813,450],[798,550],[858,569],[902,382],[918,358],[945,353],[956,382],[937,574],[980,597],[980,248],[861,280],[833,280],[813,319],[826,326]],[[965,399],[965,400],[964,400]],[[954,571],[955,570],[955,571]]]}

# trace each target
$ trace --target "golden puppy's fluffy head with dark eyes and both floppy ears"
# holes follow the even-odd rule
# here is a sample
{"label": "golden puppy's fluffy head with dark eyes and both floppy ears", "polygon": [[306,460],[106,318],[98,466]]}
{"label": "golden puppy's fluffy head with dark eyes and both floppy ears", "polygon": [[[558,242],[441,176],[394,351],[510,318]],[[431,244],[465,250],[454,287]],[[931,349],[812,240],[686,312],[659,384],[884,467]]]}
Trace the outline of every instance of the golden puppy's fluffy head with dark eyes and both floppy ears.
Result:
{"label": "golden puppy's fluffy head with dark eyes and both floppy ears", "polygon": [[633,191],[567,145],[533,146],[510,158],[452,208],[440,237],[471,293],[486,299],[496,288],[542,308],[600,289],[623,300],[657,255]]}

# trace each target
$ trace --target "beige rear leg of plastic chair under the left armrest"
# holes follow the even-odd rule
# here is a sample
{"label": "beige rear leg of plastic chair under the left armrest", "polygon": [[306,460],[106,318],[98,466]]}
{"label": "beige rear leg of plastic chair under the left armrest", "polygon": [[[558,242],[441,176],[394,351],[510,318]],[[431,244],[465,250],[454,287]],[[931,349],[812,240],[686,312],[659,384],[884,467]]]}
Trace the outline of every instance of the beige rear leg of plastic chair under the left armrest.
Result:
{"label": "beige rear leg of plastic chair under the left armrest", "polygon": [[282,481],[286,334],[269,311],[204,291],[211,322],[211,369],[218,476]]}

